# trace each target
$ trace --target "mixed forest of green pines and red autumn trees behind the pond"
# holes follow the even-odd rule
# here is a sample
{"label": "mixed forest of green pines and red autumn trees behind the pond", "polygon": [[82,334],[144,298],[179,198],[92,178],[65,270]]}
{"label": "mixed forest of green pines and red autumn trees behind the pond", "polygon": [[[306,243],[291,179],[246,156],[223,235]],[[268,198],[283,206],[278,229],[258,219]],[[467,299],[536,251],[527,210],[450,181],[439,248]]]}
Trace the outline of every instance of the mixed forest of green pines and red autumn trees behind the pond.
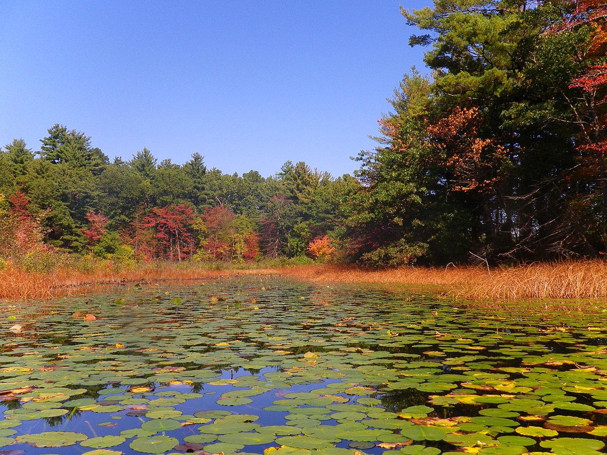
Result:
{"label": "mixed forest of green pines and red autumn trees behind the pond", "polygon": [[353,176],[291,161],[229,175],[201,153],[158,162],[145,147],[110,161],[57,123],[38,150],[0,150],[0,266],[603,257],[607,4],[435,0],[401,13],[427,67],[396,87],[378,146],[353,150]]}

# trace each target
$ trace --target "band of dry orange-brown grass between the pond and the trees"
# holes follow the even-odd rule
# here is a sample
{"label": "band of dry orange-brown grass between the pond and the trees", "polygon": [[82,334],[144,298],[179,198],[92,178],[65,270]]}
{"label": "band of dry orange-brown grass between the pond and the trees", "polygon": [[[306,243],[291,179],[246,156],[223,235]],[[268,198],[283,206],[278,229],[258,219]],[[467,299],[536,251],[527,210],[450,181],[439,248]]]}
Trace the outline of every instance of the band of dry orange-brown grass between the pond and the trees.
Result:
{"label": "band of dry orange-brown grass between the pond and the trees", "polygon": [[95,269],[91,272],[58,269],[49,274],[20,270],[0,271],[0,299],[51,298],[79,295],[120,283],[200,281],[231,275],[281,275],[305,281],[382,283],[433,286],[433,290],[467,300],[600,299],[607,298],[607,262],[538,263],[514,268],[480,267],[367,270],[345,266],[299,266],[250,270],[208,270],[195,265],[141,266],[133,271]]}

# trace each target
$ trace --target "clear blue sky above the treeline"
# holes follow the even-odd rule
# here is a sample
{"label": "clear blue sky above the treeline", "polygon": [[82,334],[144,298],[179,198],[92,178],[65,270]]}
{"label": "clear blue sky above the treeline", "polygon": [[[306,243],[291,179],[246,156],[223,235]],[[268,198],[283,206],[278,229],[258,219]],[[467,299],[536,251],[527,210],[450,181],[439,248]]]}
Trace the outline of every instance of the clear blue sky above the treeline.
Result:
{"label": "clear blue sky above the treeline", "polygon": [[399,4],[432,1],[0,0],[0,145],[61,123],[111,159],[351,174],[423,67]]}

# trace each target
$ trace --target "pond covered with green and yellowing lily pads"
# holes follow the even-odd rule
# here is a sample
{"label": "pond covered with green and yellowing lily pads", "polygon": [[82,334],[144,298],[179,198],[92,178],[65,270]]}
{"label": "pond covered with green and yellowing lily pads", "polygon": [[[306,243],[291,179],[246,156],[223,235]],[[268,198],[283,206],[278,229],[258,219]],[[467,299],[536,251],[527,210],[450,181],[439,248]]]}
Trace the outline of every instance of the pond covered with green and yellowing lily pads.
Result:
{"label": "pond covered with green and yellowing lily pads", "polygon": [[0,455],[602,453],[605,311],[259,277],[4,302]]}

